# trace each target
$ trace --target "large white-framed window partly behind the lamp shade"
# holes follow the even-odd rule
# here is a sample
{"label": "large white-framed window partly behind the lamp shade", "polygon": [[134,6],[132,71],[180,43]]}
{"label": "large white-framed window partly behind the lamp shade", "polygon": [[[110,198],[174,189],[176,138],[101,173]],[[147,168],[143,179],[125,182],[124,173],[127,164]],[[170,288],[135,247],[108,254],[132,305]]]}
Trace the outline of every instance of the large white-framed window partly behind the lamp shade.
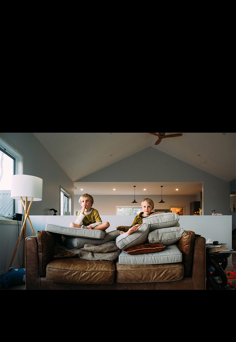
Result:
{"label": "large white-framed window partly behind the lamp shade", "polygon": [[14,174],[22,174],[23,154],[5,138],[0,138],[0,214],[22,213],[22,202],[11,198]]}

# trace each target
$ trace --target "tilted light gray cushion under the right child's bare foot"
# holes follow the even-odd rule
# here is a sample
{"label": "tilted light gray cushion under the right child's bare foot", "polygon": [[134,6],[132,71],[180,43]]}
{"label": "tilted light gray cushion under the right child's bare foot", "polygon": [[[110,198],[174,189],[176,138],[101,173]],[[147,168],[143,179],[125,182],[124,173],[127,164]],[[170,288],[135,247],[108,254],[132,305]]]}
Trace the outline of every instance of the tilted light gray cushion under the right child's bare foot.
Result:
{"label": "tilted light gray cushion under the right child's bare foot", "polygon": [[130,235],[128,235],[127,233],[119,235],[115,239],[116,246],[120,249],[127,249],[132,246],[144,244],[145,242],[147,242],[148,233],[148,225],[146,223],[143,223],[141,226],[139,226],[138,231],[133,232]]}

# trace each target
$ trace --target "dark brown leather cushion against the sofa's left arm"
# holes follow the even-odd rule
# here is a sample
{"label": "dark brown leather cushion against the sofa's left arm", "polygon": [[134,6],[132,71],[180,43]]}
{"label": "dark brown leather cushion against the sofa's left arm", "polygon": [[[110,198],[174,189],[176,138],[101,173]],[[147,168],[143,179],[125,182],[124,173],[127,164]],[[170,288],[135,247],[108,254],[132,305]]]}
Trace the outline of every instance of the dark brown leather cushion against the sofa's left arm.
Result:
{"label": "dark brown leather cushion against the sofa's left arm", "polygon": [[38,231],[38,257],[40,276],[46,275],[46,266],[54,258],[55,236],[50,232]]}

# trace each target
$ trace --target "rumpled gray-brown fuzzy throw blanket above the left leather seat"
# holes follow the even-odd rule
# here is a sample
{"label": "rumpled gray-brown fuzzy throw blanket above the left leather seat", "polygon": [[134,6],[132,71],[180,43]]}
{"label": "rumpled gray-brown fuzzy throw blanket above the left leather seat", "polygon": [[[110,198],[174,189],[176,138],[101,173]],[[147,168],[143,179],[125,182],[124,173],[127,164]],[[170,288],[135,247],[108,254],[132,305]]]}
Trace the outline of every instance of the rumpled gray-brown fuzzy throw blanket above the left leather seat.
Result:
{"label": "rumpled gray-brown fuzzy throw blanket above the left leather seat", "polygon": [[114,261],[121,253],[115,241],[109,241],[102,245],[85,244],[83,248],[69,249],[65,246],[60,246],[60,248],[87,260]]}

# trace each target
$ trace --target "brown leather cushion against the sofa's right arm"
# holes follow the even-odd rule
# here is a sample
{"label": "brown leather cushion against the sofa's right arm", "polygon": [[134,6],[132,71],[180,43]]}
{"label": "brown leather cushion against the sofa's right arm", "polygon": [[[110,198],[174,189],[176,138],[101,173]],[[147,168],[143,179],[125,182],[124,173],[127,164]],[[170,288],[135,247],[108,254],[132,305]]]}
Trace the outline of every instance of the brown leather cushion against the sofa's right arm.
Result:
{"label": "brown leather cushion against the sofa's right arm", "polygon": [[184,265],[184,277],[192,276],[193,255],[194,255],[195,232],[186,231],[177,246],[182,252],[182,262]]}

